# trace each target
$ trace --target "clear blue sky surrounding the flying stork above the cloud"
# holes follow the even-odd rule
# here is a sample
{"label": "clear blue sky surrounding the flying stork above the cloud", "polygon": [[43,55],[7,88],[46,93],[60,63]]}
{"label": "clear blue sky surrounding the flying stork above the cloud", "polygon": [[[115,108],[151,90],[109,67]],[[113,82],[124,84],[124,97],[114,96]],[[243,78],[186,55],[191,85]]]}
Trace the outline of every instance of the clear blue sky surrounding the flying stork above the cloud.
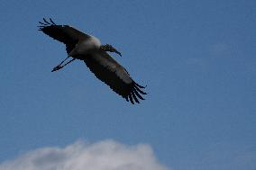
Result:
{"label": "clear blue sky surrounding the flying stork above the cloud", "polygon": [[[69,24],[119,49],[142,104],[126,103],[36,26]],[[256,1],[3,1],[0,162],[78,139],[147,143],[161,164],[256,168]]]}

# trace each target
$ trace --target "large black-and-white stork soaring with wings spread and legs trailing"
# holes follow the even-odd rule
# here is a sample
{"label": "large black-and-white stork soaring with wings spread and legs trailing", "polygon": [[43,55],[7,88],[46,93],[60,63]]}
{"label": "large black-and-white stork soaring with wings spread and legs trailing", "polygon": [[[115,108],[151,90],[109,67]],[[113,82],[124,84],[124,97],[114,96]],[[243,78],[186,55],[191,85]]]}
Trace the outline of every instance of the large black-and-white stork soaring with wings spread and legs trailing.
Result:
{"label": "large black-and-white stork soaring with wings spread and legs trailing", "polygon": [[[47,21],[43,18],[43,22],[39,23],[39,31],[64,43],[68,53],[68,57],[53,67],[51,72],[58,71],[76,59],[83,60],[98,79],[109,85],[127,102],[134,104],[144,100],[142,95],[146,93],[142,89],[145,86],[133,81],[127,70],[107,53],[107,51],[114,52],[122,56],[112,45],[101,45],[100,40],[96,37],[78,31],[69,25],[56,24],[51,19]],[[70,60],[67,62],[68,59]]]}

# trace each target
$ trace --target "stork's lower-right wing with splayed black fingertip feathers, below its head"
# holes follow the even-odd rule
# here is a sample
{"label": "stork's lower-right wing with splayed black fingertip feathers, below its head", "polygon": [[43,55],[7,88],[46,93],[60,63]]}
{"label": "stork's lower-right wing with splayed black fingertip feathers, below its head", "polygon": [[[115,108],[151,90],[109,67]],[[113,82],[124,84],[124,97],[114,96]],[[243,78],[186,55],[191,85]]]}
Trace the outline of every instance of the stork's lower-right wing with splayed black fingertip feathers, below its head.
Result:
{"label": "stork's lower-right wing with splayed black fingertip feathers, below its head", "polygon": [[109,85],[116,94],[120,94],[127,102],[140,103],[139,99],[144,100],[142,91],[145,88],[133,81],[133,78],[117,61],[114,60],[104,50],[96,50],[85,58],[87,67],[101,81]]}

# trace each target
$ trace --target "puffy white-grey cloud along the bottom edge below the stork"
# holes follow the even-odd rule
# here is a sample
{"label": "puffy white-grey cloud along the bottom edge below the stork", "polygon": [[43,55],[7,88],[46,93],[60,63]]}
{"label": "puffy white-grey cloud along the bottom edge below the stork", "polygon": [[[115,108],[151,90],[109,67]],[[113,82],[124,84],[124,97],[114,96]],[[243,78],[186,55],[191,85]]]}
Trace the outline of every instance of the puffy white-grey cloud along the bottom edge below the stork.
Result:
{"label": "puffy white-grey cloud along the bottom edge below the stork", "polygon": [[78,141],[66,148],[40,148],[0,164],[0,170],[167,170],[149,145],[126,146],[113,140]]}

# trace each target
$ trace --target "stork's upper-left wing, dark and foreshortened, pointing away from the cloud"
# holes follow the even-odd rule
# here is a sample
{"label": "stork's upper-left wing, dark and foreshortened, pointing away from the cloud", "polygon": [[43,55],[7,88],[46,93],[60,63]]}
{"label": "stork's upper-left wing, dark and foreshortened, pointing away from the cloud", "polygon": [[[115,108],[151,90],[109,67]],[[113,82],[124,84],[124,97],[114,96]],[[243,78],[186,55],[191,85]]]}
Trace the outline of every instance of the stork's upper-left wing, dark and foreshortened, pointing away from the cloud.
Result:
{"label": "stork's upper-left wing, dark and foreshortened, pointing away from the cloud", "polygon": [[70,27],[69,25],[57,25],[51,19],[47,21],[43,18],[43,22],[39,22],[39,31],[49,35],[54,40],[59,40],[66,44],[67,53],[75,48],[79,40],[87,39],[90,36],[82,31]]}

